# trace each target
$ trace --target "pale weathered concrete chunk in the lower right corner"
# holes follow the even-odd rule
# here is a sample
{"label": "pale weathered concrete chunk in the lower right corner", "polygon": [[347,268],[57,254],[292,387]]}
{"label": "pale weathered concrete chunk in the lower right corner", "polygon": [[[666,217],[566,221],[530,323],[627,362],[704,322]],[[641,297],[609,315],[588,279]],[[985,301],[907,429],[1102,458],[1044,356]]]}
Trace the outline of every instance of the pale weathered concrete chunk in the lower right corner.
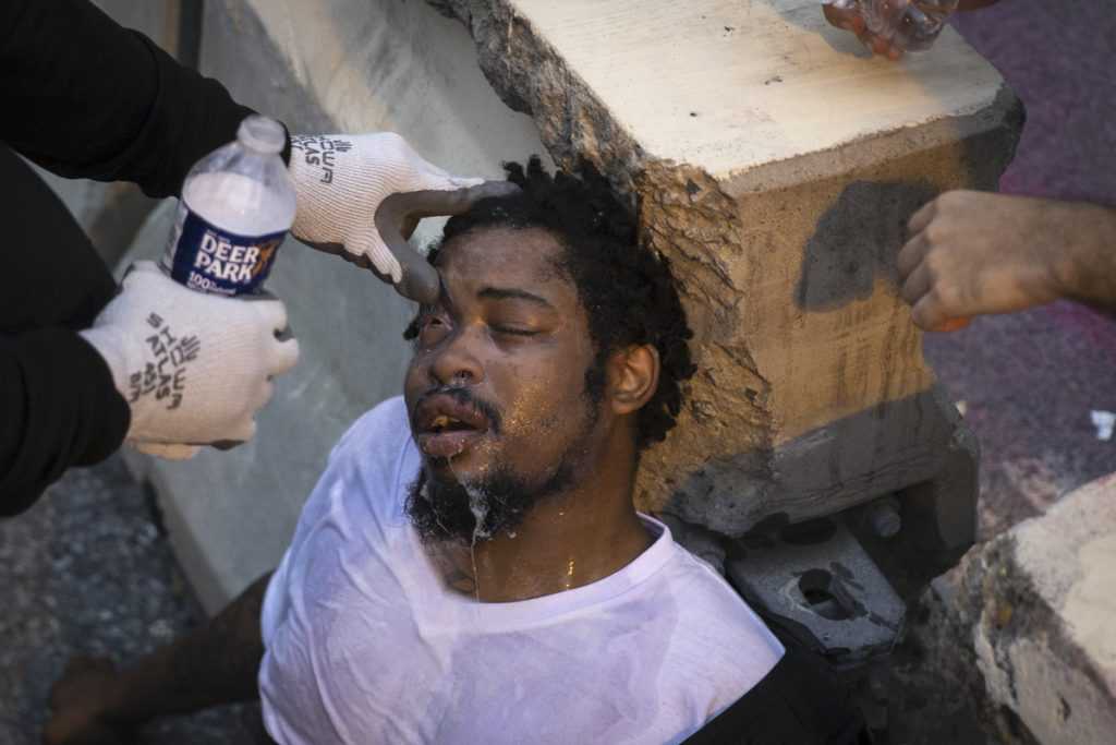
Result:
{"label": "pale weathered concrete chunk in the lower right corner", "polygon": [[1116,476],[983,546],[965,571],[990,698],[1042,745],[1116,733]]}

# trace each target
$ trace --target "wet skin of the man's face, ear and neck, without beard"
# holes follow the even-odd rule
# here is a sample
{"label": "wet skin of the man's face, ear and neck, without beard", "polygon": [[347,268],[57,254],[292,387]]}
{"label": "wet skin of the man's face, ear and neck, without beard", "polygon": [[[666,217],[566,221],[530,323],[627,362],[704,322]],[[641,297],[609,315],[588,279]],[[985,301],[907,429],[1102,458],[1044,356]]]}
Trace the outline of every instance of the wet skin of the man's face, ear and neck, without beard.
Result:
{"label": "wet skin of the man's face, ear and neck, without beard", "polygon": [[602,400],[586,395],[595,351],[577,289],[558,268],[561,252],[535,228],[460,236],[439,257],[442,300],[417,319],[404,393],[427,476],[468,485],[502,468],[533,486],[565,464],[573,477],[514,535],[477,544],[470,564],[484,601],[587,584],[651,543],[632,486],[635,413],[654,390],[657,356],[647,347],[614,354]]}

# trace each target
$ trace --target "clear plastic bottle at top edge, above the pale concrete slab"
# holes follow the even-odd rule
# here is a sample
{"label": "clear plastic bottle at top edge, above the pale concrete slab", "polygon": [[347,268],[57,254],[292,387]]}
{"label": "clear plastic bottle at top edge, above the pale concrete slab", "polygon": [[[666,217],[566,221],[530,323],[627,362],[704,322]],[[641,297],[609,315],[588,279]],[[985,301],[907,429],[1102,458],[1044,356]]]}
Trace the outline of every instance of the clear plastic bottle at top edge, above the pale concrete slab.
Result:
{"label": "clear plastic bottle at top edge, above the pale concrete slab", "polygon": [[822,4],[840,15],[859,15],[868,31],[905,51],[929,49],[946,17],[958,9],[958,0],[829,0]]}

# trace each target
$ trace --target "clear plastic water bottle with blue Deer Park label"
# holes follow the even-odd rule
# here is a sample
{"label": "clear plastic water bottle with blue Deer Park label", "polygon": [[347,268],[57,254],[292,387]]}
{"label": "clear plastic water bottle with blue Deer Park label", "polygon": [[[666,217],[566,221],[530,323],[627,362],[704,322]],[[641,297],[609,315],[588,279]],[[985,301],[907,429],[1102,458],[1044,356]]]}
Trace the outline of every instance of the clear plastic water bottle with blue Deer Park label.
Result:
{"label": "clear plastic water bottle with blue Deer Park label", "polygon": [[286,141],[278,122],[249,116],[234,142],[190,170],[160,262],[163,271],[202,293],[261,290],[295,222],[295,185],[279,155]]}

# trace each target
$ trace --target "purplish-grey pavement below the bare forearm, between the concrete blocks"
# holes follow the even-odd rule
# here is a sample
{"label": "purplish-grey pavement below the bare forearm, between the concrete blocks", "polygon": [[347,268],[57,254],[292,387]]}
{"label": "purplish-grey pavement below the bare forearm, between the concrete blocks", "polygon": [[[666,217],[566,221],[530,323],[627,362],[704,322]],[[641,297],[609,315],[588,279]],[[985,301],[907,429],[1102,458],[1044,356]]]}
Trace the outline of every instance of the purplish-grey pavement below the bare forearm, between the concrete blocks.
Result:
{"label": "purplish-grey pavement below the bare forearm, between the concrete blocks", "polygon": [[1090,419],[1116,411],[1116,322],[1059,303],[927,335],[925,350],[980,438],[982,539],[1116,471],[1116,438]]}

